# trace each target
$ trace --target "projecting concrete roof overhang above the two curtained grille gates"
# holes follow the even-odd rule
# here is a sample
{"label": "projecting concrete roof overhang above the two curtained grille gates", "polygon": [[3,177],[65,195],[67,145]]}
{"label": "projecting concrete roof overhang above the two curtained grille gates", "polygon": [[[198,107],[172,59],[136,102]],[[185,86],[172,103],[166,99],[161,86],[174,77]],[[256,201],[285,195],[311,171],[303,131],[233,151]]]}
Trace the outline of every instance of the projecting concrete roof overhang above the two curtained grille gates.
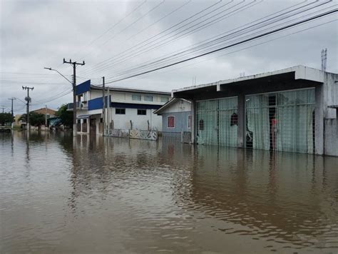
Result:
{"label": "projecting concrete roof overhang above the two curtained grille gates", "polygon": [[[213,83],[201,84],[198,86],[190,86],[173,90],[172,95],[175,98],[194,98],[196,94],[202,93],[217,93],[219,91],[243,91],[241,88],[250,86],[265,86],[268,87],[272,83],[287,83],[287,82],[307,81],[313,86],[315,84],[324,83],[324,72],[315,68],[305,66],[294,66],[278,71],[270,71],[251,76],[240,78],[232,78]],[[263,90],[263,89],[260,89]],[[245,91],[245,90],[244,90]]]}

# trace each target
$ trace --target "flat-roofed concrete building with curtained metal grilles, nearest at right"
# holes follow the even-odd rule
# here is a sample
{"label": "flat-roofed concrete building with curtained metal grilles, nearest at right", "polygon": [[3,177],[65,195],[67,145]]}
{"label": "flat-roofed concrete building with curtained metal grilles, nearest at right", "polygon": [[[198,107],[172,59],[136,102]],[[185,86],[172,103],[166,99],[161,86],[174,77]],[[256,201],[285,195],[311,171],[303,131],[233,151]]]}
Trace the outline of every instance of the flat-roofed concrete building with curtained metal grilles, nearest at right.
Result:
{"label": "flat-roofed concrete building with curtained metal grilles, nearest at right", "polygon": [[181,88],[192,142],[338,156],[338,74],[305,66]]}

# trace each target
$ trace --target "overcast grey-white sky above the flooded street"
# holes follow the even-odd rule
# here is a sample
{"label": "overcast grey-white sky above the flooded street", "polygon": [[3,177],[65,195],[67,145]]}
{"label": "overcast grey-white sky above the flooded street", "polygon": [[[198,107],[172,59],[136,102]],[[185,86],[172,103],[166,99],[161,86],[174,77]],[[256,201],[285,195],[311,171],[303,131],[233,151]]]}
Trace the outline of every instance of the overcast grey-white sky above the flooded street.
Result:
{"label": "overcast grey-white sky above the flooded street", "polygon": [[[71,84],[58,73],[43,69],[56,68],[71,79],[72,68],[62,64],[63,58],[86,62],[85,66],[77,68],[78,83],[91,79],[92,83],[100,84],[102,76],[113,81],[138,73],[130,72],[130,68],[188,49],[200,41],[282,9],[314,3],[275,0],[0,2],[0,106],[9,111],[11,101],[8,98],[16,97],[15,113],[25,111],[20,100],[24,101],[26,91],[21,86],[34,86],[31,91],[33,109],[45,105],[56,109],[62,103],[72,101],[71,93],[66,94],[70,92]],[[337,1],[302,15],[334,8],[337,8]],[[198,14],[200,11],[203,12]],[[338,22],[337,14],[334,15],[109,86],[171,91],[192,86],[194,78],[195,83],[200,84],[235,78],[241,73],[247,76],[299,64],[320,68],[320,52],[324,48],[328,51],[327,71],[337,73]],[[193,18],[188,19],[190,16]],[[299,16],[292,17],[295,18]],[[210,21],[213,23],[207,26]],[[194,52],[190,52],[186,56],[193,55]],[[125,75],[117,76],[124,71]],[[66,96],[58,98],[63,94]]]}

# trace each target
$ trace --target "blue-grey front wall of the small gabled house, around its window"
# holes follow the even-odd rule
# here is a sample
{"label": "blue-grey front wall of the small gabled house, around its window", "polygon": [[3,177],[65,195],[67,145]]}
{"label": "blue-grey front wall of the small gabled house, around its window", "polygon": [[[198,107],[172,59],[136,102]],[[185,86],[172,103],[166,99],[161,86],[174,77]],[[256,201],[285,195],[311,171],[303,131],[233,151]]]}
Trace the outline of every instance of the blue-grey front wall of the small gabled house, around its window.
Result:
{"label": "blue-grey front wall of the small gabled house, around its window", "polygon": [[[175,128],[168,128],[168,116],[175,117]],[[188,128],[188,116],[191,116],[191,111],[163,113],[162,132],[191,131],[191,127]]]}

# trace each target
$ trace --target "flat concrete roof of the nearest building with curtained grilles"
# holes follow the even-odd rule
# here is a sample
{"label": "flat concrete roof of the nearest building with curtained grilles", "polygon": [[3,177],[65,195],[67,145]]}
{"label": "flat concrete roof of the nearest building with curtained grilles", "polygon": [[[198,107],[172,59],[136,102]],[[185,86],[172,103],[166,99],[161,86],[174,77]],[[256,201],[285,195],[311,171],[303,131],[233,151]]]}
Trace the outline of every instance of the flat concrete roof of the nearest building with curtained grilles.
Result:
{"label": "flat concrete roof of the nearest building with curtained grilles", "polygon": [[[206,91],[222,91],[225,86],[235,86],[239,84],[255,83],[257,80],[270,79],[283,81],[288,80],[307,80],[317,83],[324,83],[324,71],[320,71],[316,68],[309,68],[306,66],[293,66],[290,68],[284,68],[277,71],[270,71],[265,73],[259,73],[250,76],[244,76],[240,78],[230,78],[222,81],[200,84],[198,86],[188,86],[173,90],[173,96],[180,97],[191,93],[203,93]],[[257,82],[256,82],[257,83]]]}

